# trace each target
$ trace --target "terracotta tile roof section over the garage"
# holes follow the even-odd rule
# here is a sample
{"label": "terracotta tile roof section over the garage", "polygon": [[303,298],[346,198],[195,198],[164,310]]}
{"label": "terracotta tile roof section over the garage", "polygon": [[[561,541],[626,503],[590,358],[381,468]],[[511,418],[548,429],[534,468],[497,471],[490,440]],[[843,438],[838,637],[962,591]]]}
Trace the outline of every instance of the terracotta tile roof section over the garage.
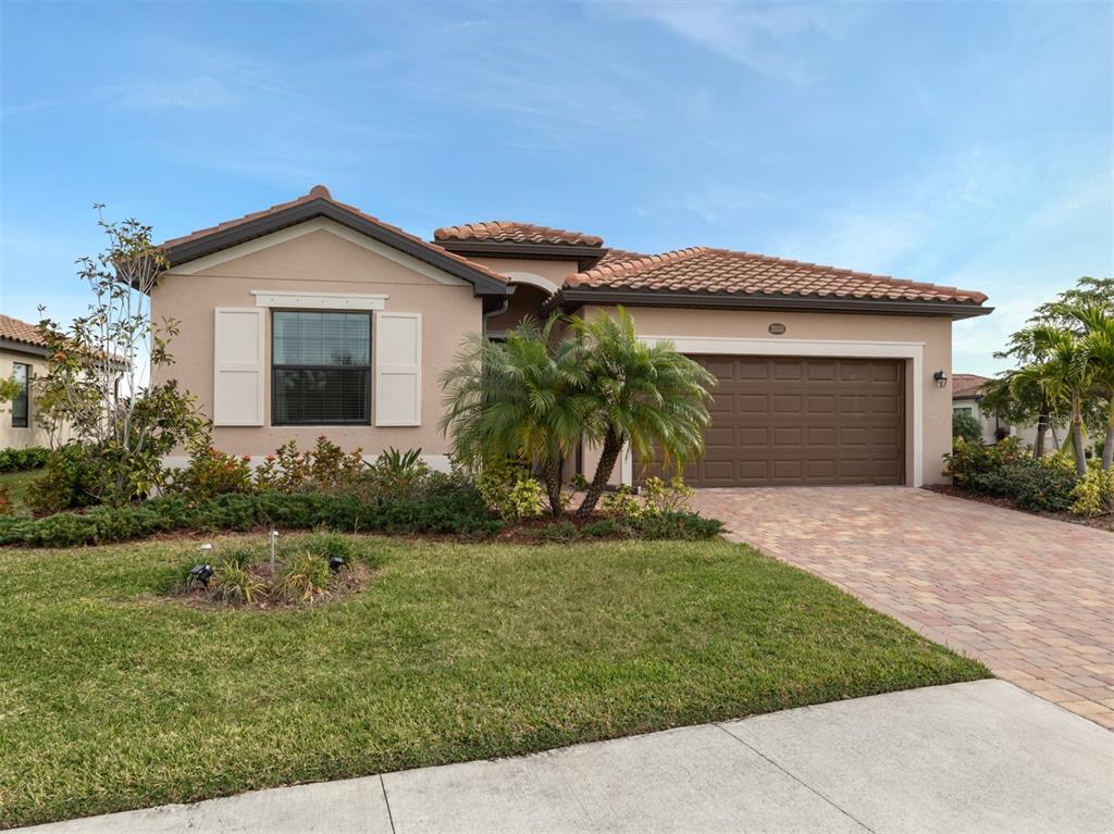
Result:
{"label": "terracotta tile roof section over the garage", "polygon": [[565,286],[970,304],[986,301],[986,295],[974,291],[706,246],[599,264],[569,275]]}

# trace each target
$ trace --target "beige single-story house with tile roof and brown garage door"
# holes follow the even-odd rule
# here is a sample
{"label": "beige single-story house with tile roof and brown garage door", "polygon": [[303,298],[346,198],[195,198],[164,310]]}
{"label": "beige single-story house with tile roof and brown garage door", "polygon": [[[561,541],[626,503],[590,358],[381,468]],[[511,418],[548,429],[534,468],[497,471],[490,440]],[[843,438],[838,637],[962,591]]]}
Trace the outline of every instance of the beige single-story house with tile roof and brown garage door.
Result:
{"label": "beige single-story house with tile roof and brown garage door", "polygon": [[[625,305],[644,340],[720,380],[694,485],[919,485],[951,442],[951,323],[991,310],[955,287],[707,247],[643,255],[525,223],[426,241],[324,186],[165,247],[152,312],[180,321],[169,373],[218,448],[253,457],[328,434],[444,465],[439,376],[466,334]],[[615,480],[638,471],[625,455]]]}

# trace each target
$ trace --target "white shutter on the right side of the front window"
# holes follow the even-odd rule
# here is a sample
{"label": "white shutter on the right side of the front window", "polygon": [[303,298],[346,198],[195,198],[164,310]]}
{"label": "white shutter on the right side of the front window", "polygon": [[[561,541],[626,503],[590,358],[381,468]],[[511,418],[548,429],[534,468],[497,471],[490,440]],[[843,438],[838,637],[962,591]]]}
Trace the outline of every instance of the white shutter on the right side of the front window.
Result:
{"label": "white shutter on the right side of the front window", "polygon": [[375,313],[375,425],[421,425],[421,313]]}

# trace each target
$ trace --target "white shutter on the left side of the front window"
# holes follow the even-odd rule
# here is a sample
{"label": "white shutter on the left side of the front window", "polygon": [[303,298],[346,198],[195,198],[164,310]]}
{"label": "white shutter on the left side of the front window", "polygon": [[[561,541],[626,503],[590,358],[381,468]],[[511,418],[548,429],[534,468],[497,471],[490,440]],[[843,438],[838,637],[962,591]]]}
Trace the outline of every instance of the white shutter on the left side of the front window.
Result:
{"label": "white shutter on the left side of the front window", "polygon": [[263,425],[265,310],[217,307],[213,424]]}

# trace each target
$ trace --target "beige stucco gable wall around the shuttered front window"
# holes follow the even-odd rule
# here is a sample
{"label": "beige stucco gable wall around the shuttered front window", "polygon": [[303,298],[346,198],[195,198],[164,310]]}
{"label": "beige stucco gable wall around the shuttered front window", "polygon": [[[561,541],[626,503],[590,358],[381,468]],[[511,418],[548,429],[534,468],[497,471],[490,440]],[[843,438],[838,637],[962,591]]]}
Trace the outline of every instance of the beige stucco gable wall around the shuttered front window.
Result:
{"label": "beige stucco gable wall around the shuttered front window", "polygon": [[[228,252],[238,251],[242,249]],[[346,450],[360,447],[369,454],[378,454],[387,447],[421,448],[427,455],[447,452],[446,440],[438,430],[442,413],[439,377],[451,365],[465,335],[480,331],[482,303],[473,296],[471,284],[448,275],[442,275],[442,279],[451,283],[441,283],[422,274],[429,273],[432,267],[408,262],[402,255],[398,257],[407,263],[397,263],[352,241],[319,229],[205,266],[196,274],[174,274],[188,269],[189,264],[172,271],[152,297],[155,321],[163,316],[180,321],[180,334],[172,344],[176,363],[164,375],[177,379],[196,394],[202,410],[208,415],[213,413],[215,307],[254,307],[252,291],[271,290],[382,294],[389,296],[385,301],[388,312],[422,314],[421,425],[272,425],[271,320],[267,316],[264,425],[215,428],[213,435],[218,449],[235,454],[265,455],[287,440],[294,439],[300,447],[307,447],[324,434]],[[196,262],[195,266],[206,261]],[[374,373],[372,385],[374,416]]]}

